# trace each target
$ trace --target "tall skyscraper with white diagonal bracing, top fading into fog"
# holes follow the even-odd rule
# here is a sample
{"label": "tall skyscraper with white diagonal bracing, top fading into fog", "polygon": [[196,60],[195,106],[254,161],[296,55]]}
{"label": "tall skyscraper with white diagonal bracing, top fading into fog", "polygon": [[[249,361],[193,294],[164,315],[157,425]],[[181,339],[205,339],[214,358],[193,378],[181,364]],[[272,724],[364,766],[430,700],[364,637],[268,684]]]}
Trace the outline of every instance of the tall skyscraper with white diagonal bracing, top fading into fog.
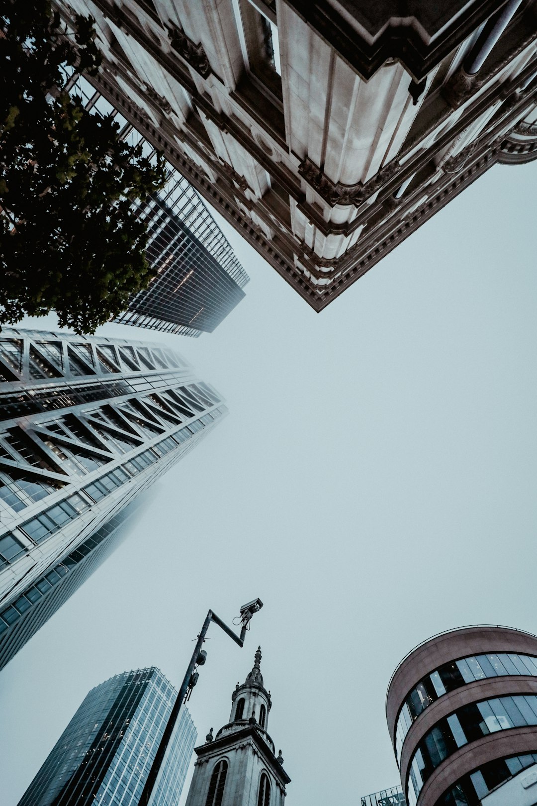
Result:
{"label": "tall skyscraper with white diagonal bracing, top fading into fog", "polygon": [[126,339],[4,329],[0,380],[2,668],[227,409],[180,355]]}

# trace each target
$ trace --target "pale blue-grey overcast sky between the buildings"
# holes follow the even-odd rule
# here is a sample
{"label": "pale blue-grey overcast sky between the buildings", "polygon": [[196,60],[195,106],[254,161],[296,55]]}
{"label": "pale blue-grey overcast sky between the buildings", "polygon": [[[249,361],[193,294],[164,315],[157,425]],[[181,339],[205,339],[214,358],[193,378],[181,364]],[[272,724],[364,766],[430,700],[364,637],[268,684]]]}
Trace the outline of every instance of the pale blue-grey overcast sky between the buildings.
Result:
{"label": "pale blue-grey overcast sky between the buildings", "polygon": [[210,629],[198,743],[260,643],[289,806],[398,782],[384,703],[415,644],[537,632],[536,180],[493,168],[322,314],[223,225],[251,282],[213,334],[101,328],[175,347],[230,414],[0,674],[2,806],[89,688],[153,664],[178,686],[209,607],[265,603],[243,650]]}

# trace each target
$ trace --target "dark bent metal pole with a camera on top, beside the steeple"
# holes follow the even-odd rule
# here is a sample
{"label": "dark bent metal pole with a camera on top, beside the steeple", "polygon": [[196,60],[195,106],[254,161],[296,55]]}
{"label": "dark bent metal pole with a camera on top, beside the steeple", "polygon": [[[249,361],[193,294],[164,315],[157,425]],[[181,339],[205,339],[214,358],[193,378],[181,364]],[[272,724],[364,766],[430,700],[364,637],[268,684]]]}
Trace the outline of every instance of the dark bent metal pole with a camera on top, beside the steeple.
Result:
{"label": "dark bent metal pole with a camera on top, beside the steeple", "polygon": [[173,708],[171,708],[171,714],[168,718],[166,727],[164,728],[163,735],[160,739],[159,746],[157,747],[157,751],[155,754],[155,758],[153,759],[153,763],[151,764],[151,769],[149,771],[149,775],[147,776],[147,781],[145,786],[143,787],[142,796],[138,801],[138,806],[148,806],[149,801],[151,799],[151,793],[155,787],[155,781],[157,776],[159,775],[160,767],[162,767],[162,762],[164,759],[164,755],[166,754],[167,746],[171,739],[171,733],[173,733],[173,729],[176,727],[177,718],[179,717],[179,713],[181,710],[181,706],[184,703],[184,700],[187,696],[188,691],[192,691],[192,688],[196,685],[197,677],[194,678],[194,669],[196,665],[199,664],[200,666],[205,663],[204,655],[201,655],[201,647],[204,644],[205,635],[207,634],[207,630],[209,629],[209,625],[211,621],[214,621],[221,629],[224,630],[225,633],[229,635],[229,638],[233,638],[233,641],[238,644],[238,646],[244,646],[244,639],[246,638],[246,631],[249,628],[250,618],[257,613],[263,606],[263,603],[260,599],[254,599],[254,601],[248,602],[247,605],[242,605],[241,608],[241,634],[240,636],[233,633],[233,629],[230,629],[221,618],[217,617],[216,613],[213,613],[212,610],[209,610],[207,616],[205,617],[205,621],[203,622],[203,627],[200,630],[200,634],[198,635],[198,639],[196,642],[196,646],[194,647],[194,651],[192,652],[192,658],[190,659],[190,663],[188,663],[186,674],[183,678],[183,683],[181,683],[181,688],[179,690],[179,694],[177,695],[176,701],[173,704]]}

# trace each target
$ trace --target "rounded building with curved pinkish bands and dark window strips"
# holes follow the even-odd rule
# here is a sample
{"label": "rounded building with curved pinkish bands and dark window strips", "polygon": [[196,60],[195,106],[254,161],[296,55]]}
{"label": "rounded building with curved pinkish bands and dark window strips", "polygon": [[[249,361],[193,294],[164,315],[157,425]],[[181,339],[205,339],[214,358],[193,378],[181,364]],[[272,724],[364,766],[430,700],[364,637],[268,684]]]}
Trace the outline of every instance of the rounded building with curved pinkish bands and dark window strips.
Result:
{"label": "rounded building with curved pinkish bands and dark window strips", "polygon": [[537,636],[465,627],[429,639],[394,672],[386,717],[409,806],[537,802]]}

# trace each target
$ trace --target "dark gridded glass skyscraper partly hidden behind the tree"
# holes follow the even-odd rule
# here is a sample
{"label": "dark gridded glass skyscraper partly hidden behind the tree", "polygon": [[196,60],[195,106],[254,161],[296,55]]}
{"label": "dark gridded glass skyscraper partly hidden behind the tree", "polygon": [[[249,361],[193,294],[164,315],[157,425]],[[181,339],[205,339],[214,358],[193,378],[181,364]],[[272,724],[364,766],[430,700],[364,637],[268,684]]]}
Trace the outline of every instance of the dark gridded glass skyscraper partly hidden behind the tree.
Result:
{"label": "dark gridded glass skyscraper partly hidden behind the tree", "polygon": [[[155,147],[89,81],[71,77],[66,86],[86,110],[113,118],[122,139],[155,159]],[[184,336],[212,333],[245,296],[250,280],[220,227],[170,164],[163,189],[134,207],[147,224],[146,257],[157,273],[115,322]]]}

